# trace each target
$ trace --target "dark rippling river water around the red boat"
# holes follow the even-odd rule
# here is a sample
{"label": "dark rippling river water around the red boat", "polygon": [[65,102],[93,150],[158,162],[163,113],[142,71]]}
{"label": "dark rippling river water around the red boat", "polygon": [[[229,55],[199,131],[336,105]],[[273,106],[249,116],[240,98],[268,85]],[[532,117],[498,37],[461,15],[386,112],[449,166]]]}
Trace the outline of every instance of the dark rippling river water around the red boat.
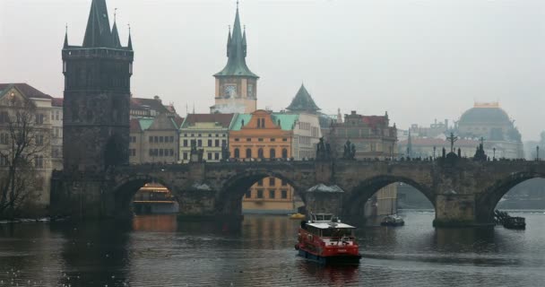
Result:
{"label": "dark rippling river water around the red boat", "polygon": [[[518,213],[513,213],[517,214]],[[0,225],[0,286],[545,286],[545,213],[526,230],[434,229],[433,213],[358,230],[360,265],[296,257],[298,221]]]}

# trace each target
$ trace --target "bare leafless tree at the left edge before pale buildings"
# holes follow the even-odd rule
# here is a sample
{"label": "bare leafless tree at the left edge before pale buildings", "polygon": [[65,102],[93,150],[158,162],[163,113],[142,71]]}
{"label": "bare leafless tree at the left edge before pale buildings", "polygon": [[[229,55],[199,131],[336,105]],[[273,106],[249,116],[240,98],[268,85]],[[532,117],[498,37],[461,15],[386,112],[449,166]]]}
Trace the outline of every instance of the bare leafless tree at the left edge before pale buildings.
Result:
{"label": "bare leafless tree at the left edge before pale buildings", "polygon": [[41,126],[46,115],[36,114],[31,100],[6,101],[0,106],[0,217],[13,218],[43,185],[37,169],[45,164],[50,135]]}

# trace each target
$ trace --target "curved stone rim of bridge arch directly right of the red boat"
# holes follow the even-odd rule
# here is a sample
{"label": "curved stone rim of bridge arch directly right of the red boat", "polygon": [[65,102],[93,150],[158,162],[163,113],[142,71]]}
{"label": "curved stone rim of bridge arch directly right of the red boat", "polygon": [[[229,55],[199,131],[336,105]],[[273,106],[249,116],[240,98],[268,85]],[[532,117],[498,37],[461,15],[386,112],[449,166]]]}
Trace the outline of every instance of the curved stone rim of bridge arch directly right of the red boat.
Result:
{"label": "curved stone rim of bridge arch directly right of the red boat", "polygon": [[[363,206],[366,204],[369,198],[376,194],[376,192],[390,184],[402,182],[416,188],[429,202],[433,204],[434,209],[436,206],[436,196],[431,187],[425,184],[421,184],[414,179],[405,178],[392,175],[380,175],[373,178],[367,178],[362,180],[355,187],[351,188],[349,196],[345,196],[343,204],[343,213],[346,216],[358,216],[361,213]],[[342,187],[342,185],[341,185]],[[349,190],[345,190],[349,191]]]}

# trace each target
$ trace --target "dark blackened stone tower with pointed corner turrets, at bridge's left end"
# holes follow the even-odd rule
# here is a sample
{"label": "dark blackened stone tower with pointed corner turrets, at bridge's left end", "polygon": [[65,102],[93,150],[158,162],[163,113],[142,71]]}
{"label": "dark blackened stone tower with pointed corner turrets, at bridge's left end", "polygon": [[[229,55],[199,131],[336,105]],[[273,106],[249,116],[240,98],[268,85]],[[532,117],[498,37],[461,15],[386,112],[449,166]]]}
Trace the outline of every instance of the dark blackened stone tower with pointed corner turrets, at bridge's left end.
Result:
{"label": "dark blackened stone tower with pointed corner turrets, at bridge's left end", "polygon": [[128,164],[133,43],[122,47],[106,0],[92,0],[82,46],[63,47],[65,171]]}

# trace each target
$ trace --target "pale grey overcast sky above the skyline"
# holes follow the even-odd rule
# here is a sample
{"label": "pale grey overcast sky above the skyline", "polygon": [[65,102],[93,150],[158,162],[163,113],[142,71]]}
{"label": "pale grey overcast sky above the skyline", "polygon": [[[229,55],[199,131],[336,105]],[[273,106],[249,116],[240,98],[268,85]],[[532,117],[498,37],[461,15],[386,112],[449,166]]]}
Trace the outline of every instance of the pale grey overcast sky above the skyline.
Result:
{"label": "pale grey overcast sky above the skyline", "polygon": [[[135,97],[185,116],[213,105],[235,0],[107,0],[126,44]],[[62,96],[61,54],[81,45],[91,0],[0,0],[0,82]],[[456,119],[499,100],[523,139],[545,129],[545,1],[257,1],[240,3],[258,108],[283,109],[301,82],[326,113],[382,115],[400,128]]]}

